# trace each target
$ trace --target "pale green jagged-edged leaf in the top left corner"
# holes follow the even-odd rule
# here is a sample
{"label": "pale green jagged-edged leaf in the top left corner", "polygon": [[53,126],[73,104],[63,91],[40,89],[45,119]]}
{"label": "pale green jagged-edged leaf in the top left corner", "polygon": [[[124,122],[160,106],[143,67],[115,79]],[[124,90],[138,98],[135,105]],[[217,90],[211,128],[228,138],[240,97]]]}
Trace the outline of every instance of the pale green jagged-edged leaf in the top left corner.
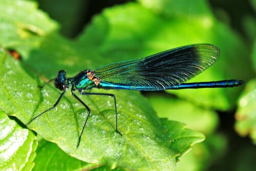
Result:
{"label": "pale green jagged-edged leaf in the top left corner", "polygon": [[37,6],[28,1],[1,1],[1,46],[13,48],[26,58],[39,47],[42,37],[58,29],[57,23]]}

